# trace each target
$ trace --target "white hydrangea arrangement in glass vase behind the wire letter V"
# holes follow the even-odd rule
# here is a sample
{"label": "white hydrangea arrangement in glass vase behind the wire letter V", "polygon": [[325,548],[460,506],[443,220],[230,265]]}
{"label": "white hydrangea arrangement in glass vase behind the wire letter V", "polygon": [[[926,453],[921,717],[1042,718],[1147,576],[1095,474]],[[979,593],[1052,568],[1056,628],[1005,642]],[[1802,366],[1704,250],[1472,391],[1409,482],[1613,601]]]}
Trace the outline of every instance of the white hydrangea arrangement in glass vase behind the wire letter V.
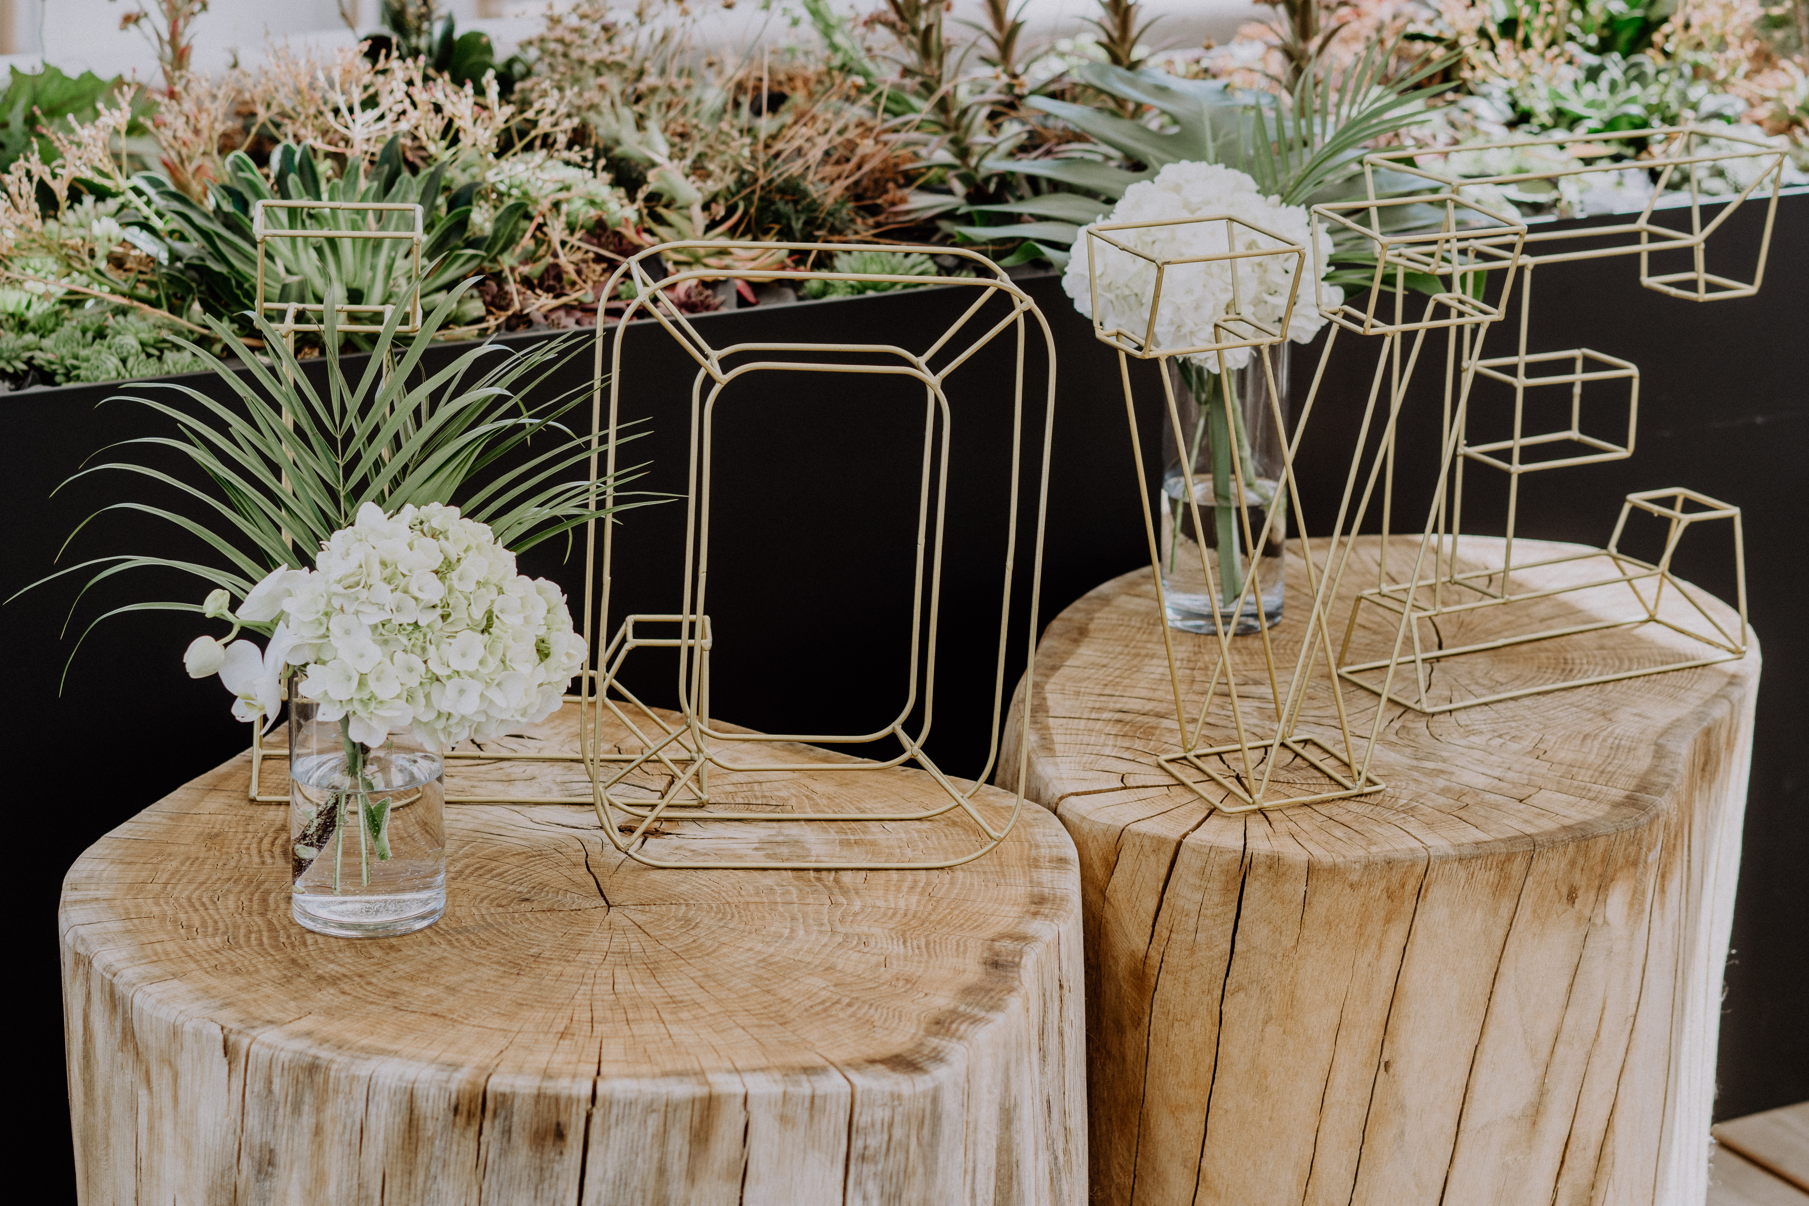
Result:
{"label": "white hydrangea arrangement in glass vase behind the wire letter V", "polygon": [[[1310,278],[1295,286],[1293,255],[1254,255],[1237,260],[1214,260],[1205,264],[1170,266],[1163,275],[1161,304],[1156,309],[1154,340],[1158,347],[1201,347],[1221,344],[1246,334],[1241,329],[1223,329],[1217,324],[1232,313],[1232,273],[1236,273],[1236,298],[1241,313],[1268,329],[1277,329],[1283,316],[1288,316],[1286,336],[1297,344],[1308,344],[1326,325],[1319,306],[1335,307],[1344,300],[1339,286],[1330,284],[1326,275],[1331,268],[1331,237],[1321,230],[1313,239],[1312,219],[1304,206],[1283,204],[1279,197],[1266,197],[1257,183],[1236,170],[1217,163],[1170,163],[1154,179],[1140,181],[1125,190],[1123,199],[1102,222],[1174,222],[1176,219],[1212,219],[1236,217],[1241,222],[1272,231],[1281,239],[1308,248],[1306,271]],[[1113,239],[1132,246],[1158,260],[1176,260],[1203,255],[1225,255],[1228,251],[1266,251],[1275,242],[1243,226],[1214,221],[1176,222],[1169,226],[1147,226],[1141,230],[1118,230]],[[1149,311],[1156,293],[1156,266],[1136,255],[1127,255],[1113,248],[1094,248],[1087,255],[1091,235],[1082,228],[1075,240],[1062,277],[1062,287],[1075,300],[1075,307],[1096,320],[1102,327],[1120,327],[1141,333],[1149,327]],[[1317,275],[1313,275],[1317,273]],[[1098,313],[1094,313],[1098,297]],[[1293,311],[1288,315],[1288,302],[1293,298]],[[1176,358],[1181,382],[1192,396],[1194,430],[1185,452],[1187,463],[1196,476],[1196,485],[1210,481],[1210,497],[1201,499],[1212,504],[1214,537],[1217,546],[1219,602],[1201,597],[1181,608],[1185,613],[1205,608],[1207,617],[1214,608],[1230,608],[1239,620],[1239,631],[1248,631],[1241,615],[1239,600],[1245,593],[1245,564],[1241,550],[1241,523],[1234,504],[1232,450],[1243,465],[1246,488],[1255,501],[1279,512],[1274,517],[1272,532],[1286,530],[1284,508],[1286,490],[1275,476],[1279,465],[1263,465],[1261,448],[1252,448],[1250,427],[1259,425],[1266,412],[1266,385],[1257,372],[1248,374],[1243,385],[1243,398],[1228,407],[1232,412],[1227,427],[1219,382],[1219,358],[1230,371],[1254,363],[1248,347],[1234,347],[1223,353],[1198,353]],[[1272,427],[1272,425],[1268,425]],[[1275,454],[1275,436],[1266,432]],[[1266,459],[1275,459],[1270,456]],[[1179,555],[1183,532],[1185,483],[1178,465],[1165,466],[1163,492],[1167,495],[1163,573],[1179,573],[1185,559]],[[1252,523],[1252,530],[1261,523]],[[1279,544],[1277,544],[1279,553]],[[1274,591],[1274,602],[1257,600],[1255,608],[1272,608],[1274,617],[1281,615],[1281,577],[1270,575],[1264,595]],[[1179,579],[1170,584],[1170,618],[1178,618],[1176,598],[1190,598],[1198,591],[1187,591]],[[1274,622],[1274,620],[1268,620]],[[1181,618],[1183,627],[1192,631],[1212,631],[1210,618]]]}

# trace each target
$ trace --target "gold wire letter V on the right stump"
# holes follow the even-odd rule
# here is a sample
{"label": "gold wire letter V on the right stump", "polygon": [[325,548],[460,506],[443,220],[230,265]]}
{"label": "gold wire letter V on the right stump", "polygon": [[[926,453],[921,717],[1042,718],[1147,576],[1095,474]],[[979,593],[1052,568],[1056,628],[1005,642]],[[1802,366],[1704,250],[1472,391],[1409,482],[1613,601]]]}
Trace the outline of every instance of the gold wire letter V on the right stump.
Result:
{"label": "gold wire letter V on the right stump", "polygon": [[[1483,262],[1491,268],[1512,266],[1518,255],[1518,239],[1525,233],[1523,228],[1512,226],[1503,230],[1491,228],[1491,237],[1456,233],[1454,213],[1458,208],[1474,208],[1456,197],[1447,199],[1447,224],[1440,231],[1431,231],[1427,235],[1398,237],[1384,244],[1384,255],[1377,257],[1377,280],[1389,268],[1395,268],[1397,275],[1404,271],[1431,273],[1435,277],[1453,277],[1460,264]],[[1492,215],[1491,215],[1492,217]],[[1342,221],[1342,219],[1340,219]],[[1125,231],[1141,230],[1161,230],[1170,226],[1214,226],[1225,224],[1225,242],[1227,251],[1192,255],[1192,257],[1158,257],[1151,255],[1138,246],[1134,246],[1136,237],[1127,237]],[[1375,730],[1371,730],[1366,752],[1359,759],[1359,743],[1351,734],[1350,718],[1344,709],[1344,696],[1339,685],[1339,678],[1333,673],[1335,660],[1330,645],[1330,635],[1326,631],[1326,609],[1330,598],[1337,591],[1337,579],[1342,575],[1342,562],[1339,562],[1337,573],[1333,573],[1333,561],[1337,561],[1339,541],[1333,539],[1331,555],[1326,561],[1326,573],[1319,571],[1313,562],[1312,546],[1308,542],[1308,533],[1301,521],[1301,497],[1299,483],[1293,476],[1293,457],[1299,450],[1301,438],[1304,436],[1306,423],[1312,418],[1313,401],[1319,394],[1319,385],[1324,380],[1326,360],[1319,363],[1319,371],[1313,376],[1313,385],[1306,396],[1301,409],[1299,421],[1295,423],[1292,438],[1286,436],[1286,421],[1281,412],[1281,398],[1275,389],[1275,371],[1272,354],[1277,349],[1286,347],[1288,325],[1292,322],[1293,306],[1299,300],[1299,282],[1302,271],[1308,264],[1308,250],[1297,242],[1292,242],[1270,230],[1263,230],[1241,219],[1230,215],[1210,215],[1194,219],[1170,219],[1158,222],[1103,222],[1087,228],[1087,271],[1089,287],[1094,313],[1094,338],[1114,347],[1118,351],[1120,380],[1123,383],[1125,396],[1125,418],[1131,425],[1131,448],[1132,459],[1136,463],[1136,479],[1140,497],[1143,501],[1143,530],[1149,539],[1151,553],[1151,573],[1156,584],[1156,602],[1158,615],[1167,613],[1165,584],[1161,577],[1161,550],[1156,537],[1156,515],[1152,501],[1149,495],[1149,476],[1143,461],[1143,448],[1138,439],[1136,429],[1136,398],[1131,385],[1131,367],[1129,362],[1136,360],[1154,360],[1158,362],[1163,382],[1163,396],[1169,412],[1170,430],[1174,432],[1176,447],[1187,448],[1187,438],[1181,430],[1179,405],[1174,392],[1174,378],[1169,372],[1169,362],[1178,356],[1216,356],[1219,365],[1219,403],[1227,412],[1227,430],[1234,430],[1234,407],[1237,400],[1232,396],[1228,372],[1230,365],[1227,362],[1227,353],[1237,349],[1250,349],[1252,354],[1261,358],[1263,363],[1263,382],[1266,385],[1266,401],[1270,407],[1270,416],[1275,429],[1283,432],[1281,450],[1281,483],[1277,490],[1286,490],[1286,501],[1292,504],[1295,515],[1295,526],[1299,530],[1299,548],[1302,562],[1306,564],[1308,589],[1312,593],[1312,608],[1308,611],[1306,633],[1301,642],[1301,651],[1293,665],[1293,673],[1286,678],[1286,691],[1283,691],[1283,674],[1277,667],[1275,649],[1270,640],[1268,629],[1259,627],[1259,645],[1261,645],[1261,673],[1255,674],[1254,691],[1239,689],[1239,645],[1232,640],[1227,626],[1225,608],[1212,608],[1214,611],[1214,645],[1216,660],[1212,673],[1205,689],[1205,698],[1201,700],[1198,712],[1187,703],[1187,691],[1181,683],[1179,658],[1176,651],[1176,635],[1167,622],[1161,626],[1163,633],[1163,653],[1169,664],[1169,685],[1174,698],[1174,716],[1176,727],[1179,730],[1181,749],[1172,754],[1160,754],[1156,765],[1160,765],[1170,777],[1179,785],[1192,790],[1205,803],[1223,810],[1223,812],[1252,812],[1259,808],[1275,808],[1286,805],[1319,803],[1330,799],[1346,799],[1353,796],[1368,796],[1384,790],[1384,783],[1377,779],[1369,770],[1369,750],[1375,745]],[[1503,250],[1503,242],[1509,246]],[[1243,244],[1243,246],[1239,246]],[[1102,255],[1131,255],[1145,264],[1152,271],[1152,293],[1149,300],[1149,315],[1143,322],[1141,331],[1131,331],[1123,325],[1107,325],[1102,318],[1098,298],[1098,269]],[[1243,302],[1243,286],[1239,282],[1239,271],[1243,260],[1257,259],[1281,259],[1284,262],[1292,260],[1290,275],[1292,287],[1288,295],[1286,307],[1283,309],[1277,322],[1264,324],[1254,315],[1246,313]],[[1207,344],[1187,345],[1187,347],[1169,347],[1163,345],[1156,336],[1158,313],[1163,304],[1163,287],[1178,269],[1189,266],[1199,266],[1199,271],[1223,271],[1230,277],[1230,302],[1225,315],[1219,315],[1212,324],[1212,340]],[[1317,269],[1317,228],[1315,228],[1315,253],[1313,266]],[[1313,273],[1317,280],[1317,271]],[[1411,322],[1404,315],[1397,313],[1393,320],[1377,316],[1377,306],[1382,297],[1380,289],[1371,291],[1373,297],[1368,307],[1350,307],[1342,304],[1322,306],[1321,311],[1331,318],[1339,327],[1357,331],[1359,334],[1382,334],[1382,363],[1377,371],[1377,387],[1380,385],[1382,374],[1380,367],[1388,362],[1388,353],[1395,347],[1395,340],[1407,331],[1420,333],[1435,327],[1447,327],[1458,324],[1474,324],[1492,316],[1491,311],[1482,302],[1471,298],[1467,293],[1447,293],[1440,295],[1427,313],[1418,320]],[[1442,306],[1445,313],[1435,313]],[[1328,340],[1326,356],[1330,356],[1333,338]],[[1371,389],[1369,407],[1375,409],[1377,391]],[[1398,407],[1398,396],[1397,396]],[[1252,466],[1243,463],[1243,450],[1232,447],[1230,456],[1234,490],[1239,499],[1250,497],[1245,492],[1245,477],[1252,472]],[[1190,510],[1190,519],[1194,532],[1205,532],[1207,526],[1199,515],[1199,492],[1194,483],[1194,468],[1189,457],[1181,457],[1181,476],[1183,492],[1187,495],[1187,504]],[[1346,499],[1348,501],[1348,499]],[[1283,508],[1264,508],[1264,519],[1261,532],[1252,532],[1248,506],[1239,506],[1239,519],[1243,526],[1245,548],[1263,548],[1270,532],[1275,524],[1277,513]],[[1342,532],[1344,513],[1339,515],[1339,526],[1333,530],[1335,535]],[[1201,573],[1207,582],[1208,597],[1219,597],[1217,579],[1212,571],[1212,557],[1207,553],[1205,541],[1198,542]],[[1350,557],[1350,544],[1344,546],[1344,559]],[[1261,598],[1261,559],[1252,557],[1252,568],[1246,575],[1243,595],[1232,606],[1232,615],[1243,611],[1246,604],[1254,598]],[[1319,658],[1324,655],[1324,678],[1326,685],[1331,689],[1331,700],[1337,709],[1337,727],[1342,749],[1333,749],[1322,738],[1304,734],[1301,730],[1301,709],[1306,703],[1308,691],[1312,687],[1315,673],[1319,673]],[[1225,683],[1225,698],[1230,725],[1230,741],[1210,741],[1205,738],[1205,729],[1208,718],[1214,718],[1214,702],[1219,693],[1219,683]],[[1268,707],[1259,709],[1257,700],[1261,698],[1263,685],[1268,687]],[[1263,712],[1263,721],[1259,725],[1255,711]],[[1223,723],[1223,721],[1219,721]],[[1293,756],[1306,767],[1310,767],[1321,781],[1313,787],[1304,788],[1297,783],[1283,783],[1275,779],[1275,770],[1283,763],[1286,754]],[[1292,794],[1290,794],[1292,792]]]}

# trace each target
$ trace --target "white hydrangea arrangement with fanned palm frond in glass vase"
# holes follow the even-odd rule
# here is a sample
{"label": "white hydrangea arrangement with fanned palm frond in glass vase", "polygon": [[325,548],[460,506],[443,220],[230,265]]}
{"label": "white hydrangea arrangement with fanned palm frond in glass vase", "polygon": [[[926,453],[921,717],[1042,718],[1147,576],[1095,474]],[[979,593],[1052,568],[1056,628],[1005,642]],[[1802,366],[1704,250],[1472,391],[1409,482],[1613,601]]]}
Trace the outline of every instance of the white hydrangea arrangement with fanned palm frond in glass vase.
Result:
{"label": "white hydrangea arrangement with fanned palm frond in glass vase", "polygon": [[[336,289],[317,362],[297,360],[259,316],[259,351],[213,324],[242,369],[190,345],[217,376],[212,396],[152,383],[118,398],[177,429],[125,443],[186,457],[186,481],[163,463],[83,470],[177,486],[188,513],[136,497],[105,510],[165,519],[212,553],[101,557],[62,573],[89,571],[83,591],[139,568],[203,579],[213,588],[204,604],[109,615],[199,611],[230,624],[183,660],[195,678],[217,674],[233,716],[259,734],[288,687],[291,909],[320,933],[407,933],[440,917],[443,750],[545,720],[588,656],[564,595],[516,573],[516,553],[648,501],[622,499],[639,470],[588,472],[588,432],[561,423],[588,398],[588,380],[526,396],[584,336],[421,363],[469,286],[405,340],[396,325],[407,307],[396,307],[356,376],[338,356]],[[297,568],[298,555],[313,566]],[[266,636],[264,647],[241,629]],[[320,857],[329,844],[333,857]],[[342,875],[347,857],[358,859],[355,877]]]}

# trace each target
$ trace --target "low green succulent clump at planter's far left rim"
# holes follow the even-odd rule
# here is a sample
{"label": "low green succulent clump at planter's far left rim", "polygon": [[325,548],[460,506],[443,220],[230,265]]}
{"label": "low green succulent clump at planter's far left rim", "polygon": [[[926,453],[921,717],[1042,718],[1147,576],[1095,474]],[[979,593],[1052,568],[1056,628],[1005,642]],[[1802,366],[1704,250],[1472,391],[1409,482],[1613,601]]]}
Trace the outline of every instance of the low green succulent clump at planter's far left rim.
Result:
{"label": "low green succulent clump at planter's far left rim", "polygon": [[137,311],[69,309],[24,289],[0,289],[0,374],[20,383],[116,382],[197,372],[203,362],[168,325]]}

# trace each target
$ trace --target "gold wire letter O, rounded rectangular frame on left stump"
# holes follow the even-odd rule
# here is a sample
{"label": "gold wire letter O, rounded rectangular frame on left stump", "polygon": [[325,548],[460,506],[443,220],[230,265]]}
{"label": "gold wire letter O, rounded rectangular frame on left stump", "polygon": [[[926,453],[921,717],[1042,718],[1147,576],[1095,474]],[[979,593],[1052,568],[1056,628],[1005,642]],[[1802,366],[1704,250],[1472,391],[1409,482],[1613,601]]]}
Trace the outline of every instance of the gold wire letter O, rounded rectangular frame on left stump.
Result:
{"label": "gold wire letter O, rounded rectangular frame on left stump", "polygon": [[[971,277],[904,277],[892,273],[847,273],[847,271],[787,271],[774,268],[689,268],[669,271],[668,262],[700,260],[704,255],[733,255],[747,251],[765,253],[809,253],[829,255],[836,251],[921,251],[924,255],[955,255],[964,259],[977,275]],[[655,277],[655,273],[662,273]],[[847,280],[874,284],[937,284],[948,287],[975,289],[971,306],[937,338],[926,351],[914,353],[892,344],[827,344],[827,342],[789,342],[789,344],[734,344],[713,347],[709,340],[693,325],[677,304],[668,297],[668,289],[687,282],[809,282],[809,280]],[[1042,582],[1042,541],[1044,513],[1049,492],[1049,447],[1055,421],[1055,336],[1035,302],[1018,289],[1006,273],[991,260],[959,248],[901,248],[867,244],[810,244],[810,242],[754,242],[754,240],[695,240],[668,242],[630,257],[604,286],[604,297],[619,297],[619,289],[628,286],[633,298],[613,336],[599,325],[595,392],[592,400],[593,457],[592,476],[597,476],[597,456],[602,456],[606,481],[613,483],[617,466],[617,448],[620,443],[620,401],[622,401],[622,340],[628,322],[644,315],[660,327],[696,362],[698,371],[691,383],[691,427],[689,427],[689,486],[686,492],[686,548],[684,548],[684,588],[680,608],[666,615],[626,615],[615,629],[608,645],[595,655],[593,678],[586,680],[581,696],[579,734],[586,767],[592,777],[592,806],[602,832],[622,853],[649,866],[673,868],[711,868],[711,870],[930,870],[970,862],[993,850],[1009,835],[1024,806],[1024,772],[1029,749],[1018,750],[1018,790],[1009,815],[1002,823],[988,823],[973,806],[973,796],[990,777],[999,758],[999,725],[1004,707],[1006,689],[1006,636],[1009,631],[1013,559],[1018,541],[1018,497],[1022,476],[1022,438],[1024,438],[1024,351],[1028,338],[1028,318],[1033,318],[1042,331],[1047,349],[1047,401],[1042,430],[1042,468],[1037,485],[1037,532],[1033,537],[1031,580],[1029,580],[1029,645],[1024,669],[1026,691],[1035,682],[1037,669],[1037,608]],[[977,334],[964,347],[957,345],[957,336],[979,316],[988,302],[1002,298],[1009,313],[991,325],[975,324]],[[1015,387],[1011,398],[1011,472],[1009,503],[1004,559],[1004,593],[999,613],[999,658],[993,676],[993,723],[988,747],[986,768],[968,788],[953,783],[924,754],[923,743],[930,732],[932,705],[935,694],[935,635],[942,570],[942,524],[948,497],[948,452],[950,452],[950,405],[944,392],[948,376],[971,360],[982,347],[1011,331],[1017,340]],[[608,347],[608,362],[604,351]],[[950,353],[952,358],[941,367],[932,367],[932,360]],[[767,354],[803,356],[801,360],[772,360]],[[865,358],[865,362],[863,362]],[[874,363],[879,360],[879,363]],[[731,363],[736,362],[736,363]],[[847,372],[857,376],[895,376],[915,380],[924,389],[924,427],[923,427],[923,470],[917,501],[917,553],[914,566],[912,597],[912,655],[910,687],[897,716],[883,729],[865,734],[756,734],[718,727],[709,716],[709,655],[715,647],[709,613],[706,609],[706,584],[709,575],[711,550],[711,468],[718,454],[715,441],[716,403],[724,391],[751,372]],[[608,385],[604,385],[608,378]],[[707,392],[706,392],[707,391]],[[608,412],[602,400],[608,394]],[[937,427],[941,438],[937,439]],[[935,472],[932,474],[932,465]],[[606,499],[613,501],[613,485],[606,486]],[[933,532],[930,517],[935,517]],[[592,622],[606,626],[610,620],[610,580],[613,553],[613,526],[602,524],[602,548],[597,550],[595,523],[586,532],[586,598],[584,626],[590,635]],[[926,555],[928,550],[928,555]],[[924,617],[924,584],[928,580],[928,618]],[[592,645],[595,649],[595,645]],[[620,671],[628,655],[639,649],[675,649],[678,655],[677,694],[680,707],[677,720],[668,720],[644,703],[620,682]],[[592,689],[592,682],[595,689]],[[921,685],[921,694],[919,694]],[[923,723],[917,732],[906,729],[914,709],[923,707]],[[604,716],[622,725],[633,740],[640,743],[639,752],[608,752],[602,749],[601,729]],[[903,752],[886,761],[848,761],[848,763],[798,763],[798,761],[734,761],[725,758],[729,750],[760,749],[772,743],[810,743],[810,745],[859,745],[892,738]],[[736,812],[736,801],[727,801],[725,792],[711,785],[711,768],[734,774],[760,776],[810,776],[825,770],[836,774],[883,772],[904,763],[915,763],[941,790],[939,803],[912,812]],[[655,787],[657,799],[626,797],[626,790],[637,787],[631,776],[640,779],[664,777],[664,787]],[[642,788],[644,790],[644,788]],[[715,790],[715,794],[713,794]],[[745,803],[743,803],[745,806]],[[756,805],[758,806],[758,805]],[[899,824],[915,821],[933,821],[946,814],[964,815],[971,821],[975,844],[946,859],[908,861],[885,853],[885,832]],[[734,823],[785,824],[785,823],[852,823],[857,826],[876,824],[881,828],[874,857],[827,857],[819,861],[794,861],[785,857],[729,857],[729,859],[666,859],[653,855],[646,843],[658,835],[655,824],[660,819],[706,823],[724,826]],[[626,830],[626,835],[624,835]],[[865,841],[865,839],[863,839]],[[856,850],[868,850],[857,844]]]}

